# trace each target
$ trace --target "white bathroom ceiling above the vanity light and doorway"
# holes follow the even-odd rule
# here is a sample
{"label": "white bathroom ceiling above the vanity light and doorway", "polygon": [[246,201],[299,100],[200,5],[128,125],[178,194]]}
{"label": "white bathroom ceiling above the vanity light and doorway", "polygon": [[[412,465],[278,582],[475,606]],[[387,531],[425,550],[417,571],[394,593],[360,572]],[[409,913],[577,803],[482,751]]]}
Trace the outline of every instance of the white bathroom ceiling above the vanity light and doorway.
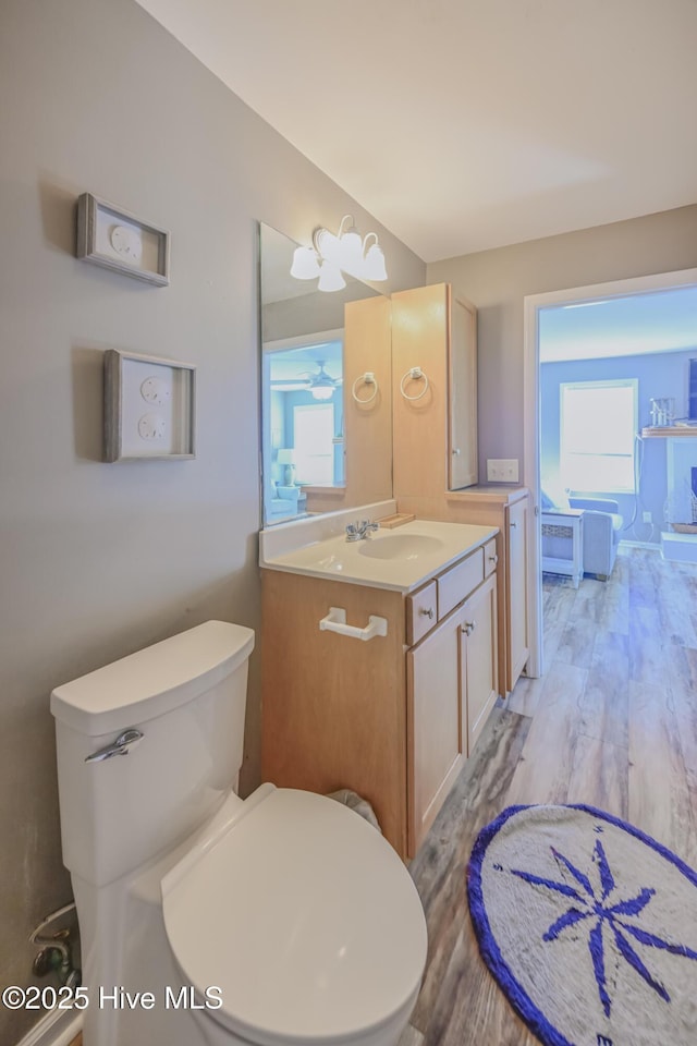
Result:
{"label": "white bathroom ceiling above the vanity light and doorway", "polygon": [[696,0],[138,2],[426,262],[697,202]]}

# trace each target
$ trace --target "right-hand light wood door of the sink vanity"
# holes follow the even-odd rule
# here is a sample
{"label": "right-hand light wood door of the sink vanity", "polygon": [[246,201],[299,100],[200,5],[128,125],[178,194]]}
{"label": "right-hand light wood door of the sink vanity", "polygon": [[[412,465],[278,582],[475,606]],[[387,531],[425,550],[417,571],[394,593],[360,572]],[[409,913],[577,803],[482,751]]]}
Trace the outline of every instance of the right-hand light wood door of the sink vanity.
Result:
{"label": "right-hand light wood door of the sink vanity", "polygon": [[467,599],[458,615],[461,678],[466,700],[467,755],[477,742],[499,692],[497,650],[497,586],[490,576]]}

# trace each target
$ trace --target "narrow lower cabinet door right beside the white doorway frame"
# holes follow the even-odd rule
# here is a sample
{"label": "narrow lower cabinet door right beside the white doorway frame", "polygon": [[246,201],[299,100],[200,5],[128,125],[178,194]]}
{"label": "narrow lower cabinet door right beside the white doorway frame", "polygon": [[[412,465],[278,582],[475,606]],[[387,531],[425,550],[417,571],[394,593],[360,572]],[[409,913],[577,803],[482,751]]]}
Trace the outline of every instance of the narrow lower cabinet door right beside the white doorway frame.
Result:
{"label": "narrow lower cabinet door right beside the white doorway frame", "polygon": [[506,510],[506,608],[508,689],[513,690],[530,654],[527,629],[527,528],[529,498],[521,498]]}

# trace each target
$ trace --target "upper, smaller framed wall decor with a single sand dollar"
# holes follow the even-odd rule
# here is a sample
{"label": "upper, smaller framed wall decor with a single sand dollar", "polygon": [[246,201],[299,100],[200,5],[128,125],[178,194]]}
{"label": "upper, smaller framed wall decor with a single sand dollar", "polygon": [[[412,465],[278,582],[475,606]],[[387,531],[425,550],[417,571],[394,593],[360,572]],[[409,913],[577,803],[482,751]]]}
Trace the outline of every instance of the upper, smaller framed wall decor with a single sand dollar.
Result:
{"label": "upper, smaller framed wall decor with a single sand dollar", "polygon": [[170,235],[91,193],[77,198],[78,258],[167,287]]}

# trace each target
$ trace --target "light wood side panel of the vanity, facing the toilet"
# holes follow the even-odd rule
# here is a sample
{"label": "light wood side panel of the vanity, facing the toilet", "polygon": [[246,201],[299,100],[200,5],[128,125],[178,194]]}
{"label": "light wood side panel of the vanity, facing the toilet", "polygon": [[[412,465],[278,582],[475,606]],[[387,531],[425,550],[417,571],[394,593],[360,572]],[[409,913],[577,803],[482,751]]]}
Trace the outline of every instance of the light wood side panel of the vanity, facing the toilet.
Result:
{"label": "light wood side panel of the vanity, facing the toilet", "polygon": [[[406,702],[401,593],[261,571],[264,779],[367,799],[406,854]],[[348,624],[370,613],[388,635],[365,643],[320,632],[330,607]]]}

